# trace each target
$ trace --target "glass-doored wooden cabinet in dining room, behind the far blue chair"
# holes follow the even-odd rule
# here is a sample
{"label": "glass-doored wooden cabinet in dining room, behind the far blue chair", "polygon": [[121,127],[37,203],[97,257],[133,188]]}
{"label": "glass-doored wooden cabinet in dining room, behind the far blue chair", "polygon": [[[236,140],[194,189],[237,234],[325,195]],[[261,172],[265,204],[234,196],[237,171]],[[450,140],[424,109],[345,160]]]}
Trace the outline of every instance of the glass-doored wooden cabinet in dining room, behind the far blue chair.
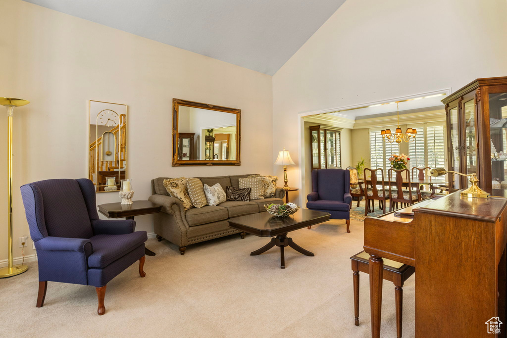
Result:
{"label": "glass-doored wooden cabinet in dining room, behind the far blue chair", "polygon": [[341,128],[311,126],[310,161],[314,169],[341,168],[340,131]]}

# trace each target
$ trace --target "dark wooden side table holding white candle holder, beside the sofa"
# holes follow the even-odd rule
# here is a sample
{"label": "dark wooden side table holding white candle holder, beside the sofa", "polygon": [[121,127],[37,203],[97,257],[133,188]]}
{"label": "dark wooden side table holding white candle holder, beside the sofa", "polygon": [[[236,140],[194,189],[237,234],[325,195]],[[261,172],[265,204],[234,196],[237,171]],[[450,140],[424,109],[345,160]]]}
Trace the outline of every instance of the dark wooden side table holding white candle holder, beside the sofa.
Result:
{"label": "dark wooden side table holding white candle holder, beside the sofa", "polygon": [[[150,201],[133,201],[132,204],[122,205],[117,203],[106,203],[98,206],[98,211],[107,218],[134,219],[134,216],[148,215],[158,213],[162,206]],[[155,252],[144,248],[144,252],[149,256],[155,256]]]}

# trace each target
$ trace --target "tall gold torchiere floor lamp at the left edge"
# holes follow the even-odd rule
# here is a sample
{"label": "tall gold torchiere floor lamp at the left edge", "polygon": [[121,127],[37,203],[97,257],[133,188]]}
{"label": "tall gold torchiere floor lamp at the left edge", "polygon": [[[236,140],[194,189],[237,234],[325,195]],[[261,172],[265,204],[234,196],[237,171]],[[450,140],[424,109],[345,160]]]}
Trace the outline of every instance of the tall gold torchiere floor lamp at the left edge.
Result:
{"label": "tall gold torchiere floor lamp at the left edge", "polygon": [[7,268],[0,269],[0,278],[11,277],[15,275],[22,274],[25,272],[28,267],[26,265],[13,265],[12,264],[12,112],[14,111],[14,107],[19,107],[25,104],[30,103],[27,100],[22,99],[14,99],[10,97],[0,97],[0,104],[7,108],[7,119],[8,119],[8,133],[7,133],[7,142],[8,153],[7,153],[7,173],[9,176],[8,181],[8,205],[9,205],[9,217],[8,217],[8,249],[9,249],[9,266]]}

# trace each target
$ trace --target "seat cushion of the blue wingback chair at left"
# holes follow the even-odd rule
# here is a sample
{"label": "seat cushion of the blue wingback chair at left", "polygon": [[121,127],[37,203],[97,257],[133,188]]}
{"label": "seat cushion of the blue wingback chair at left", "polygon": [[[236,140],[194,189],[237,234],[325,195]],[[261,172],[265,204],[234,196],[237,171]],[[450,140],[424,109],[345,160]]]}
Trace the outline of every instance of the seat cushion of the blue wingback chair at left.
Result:
{"label": "seat cushion of the blue wingback chair at left", "polygon": [[146,242],[146,231],[136,231],[123,235],[95,235],[90,237],[92,254],[88,257],[88,267],[105,268],[112,262]]}

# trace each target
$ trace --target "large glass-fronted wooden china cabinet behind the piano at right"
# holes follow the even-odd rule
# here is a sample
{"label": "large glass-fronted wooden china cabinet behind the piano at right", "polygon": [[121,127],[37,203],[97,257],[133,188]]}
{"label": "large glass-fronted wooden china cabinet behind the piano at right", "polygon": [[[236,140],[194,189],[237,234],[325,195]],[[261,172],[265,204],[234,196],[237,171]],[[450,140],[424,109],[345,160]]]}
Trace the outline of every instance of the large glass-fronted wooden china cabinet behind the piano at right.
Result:
{"label": "large glass-fronted wooden china cabinet behind the piano at right", "polygon": [[[507,77],[474,80],[442,102],[447,115],[447,169],[477,173],[482,189],[491,189],[492,180],[507,180]],[[467,177],[453,176],[455,189],[469,185]]]}

